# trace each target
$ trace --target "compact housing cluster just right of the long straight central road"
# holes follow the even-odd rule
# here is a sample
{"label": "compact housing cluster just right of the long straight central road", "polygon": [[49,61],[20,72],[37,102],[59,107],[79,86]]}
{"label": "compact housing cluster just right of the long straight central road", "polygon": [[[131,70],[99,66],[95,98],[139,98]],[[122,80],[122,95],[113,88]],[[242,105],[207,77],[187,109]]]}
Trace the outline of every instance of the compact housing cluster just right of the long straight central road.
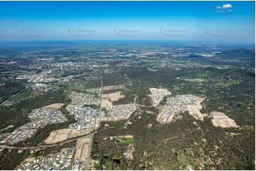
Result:
{"label": "compact housing cluster just right of the long straight central road", "polygon": [[108,110],[108,114],[110,114],[112,117],[126,117],[136,110],[136,106],[134,103],[126,105],[113,105],[112,107],[106,107],[106,110]]}

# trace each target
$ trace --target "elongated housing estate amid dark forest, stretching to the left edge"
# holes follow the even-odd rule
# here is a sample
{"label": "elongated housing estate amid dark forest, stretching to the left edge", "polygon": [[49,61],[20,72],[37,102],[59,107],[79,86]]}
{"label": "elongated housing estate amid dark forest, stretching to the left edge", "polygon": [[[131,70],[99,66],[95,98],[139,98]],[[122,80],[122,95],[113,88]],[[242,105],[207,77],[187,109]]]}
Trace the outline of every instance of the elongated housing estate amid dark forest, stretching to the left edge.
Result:
{"label": "elongated housing estate amid dark forest, stretching to the left edge", "polygon": [[67,118],[60,110],[48,107],[33,110],[28,114],[28,118],[31,119],[32,122],[18,127],[11,133],[0,134],[0,143],[14,144],[33,136],[37,129],[43,128],[47,124],[57,124],[67,121]]}

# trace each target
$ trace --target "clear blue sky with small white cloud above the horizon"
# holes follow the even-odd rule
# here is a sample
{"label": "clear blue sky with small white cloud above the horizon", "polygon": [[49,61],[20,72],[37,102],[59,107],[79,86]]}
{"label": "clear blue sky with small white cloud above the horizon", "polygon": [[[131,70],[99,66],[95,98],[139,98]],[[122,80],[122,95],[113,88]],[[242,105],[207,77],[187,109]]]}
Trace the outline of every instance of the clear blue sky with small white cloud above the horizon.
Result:
{"label": "clear blue sky with small white cloud above the horizon", "polygon": [[0,40],[255,42],[255,1],[0,1]]}

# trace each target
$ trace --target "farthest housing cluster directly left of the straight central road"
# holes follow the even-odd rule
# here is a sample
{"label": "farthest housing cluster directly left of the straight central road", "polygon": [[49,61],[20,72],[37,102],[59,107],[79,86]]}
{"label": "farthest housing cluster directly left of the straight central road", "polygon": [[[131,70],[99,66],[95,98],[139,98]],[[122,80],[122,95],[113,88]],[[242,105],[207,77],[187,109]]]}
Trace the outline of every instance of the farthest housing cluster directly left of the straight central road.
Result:
{"label": "farthest housing cluster directly left of the straight central road", "polygon": [[72,104],[79,107],[84,107],[84,105],[96,105],[99,106],[101,98],[97,93],[77,93],[72,91],[69,98],[72,101]]}

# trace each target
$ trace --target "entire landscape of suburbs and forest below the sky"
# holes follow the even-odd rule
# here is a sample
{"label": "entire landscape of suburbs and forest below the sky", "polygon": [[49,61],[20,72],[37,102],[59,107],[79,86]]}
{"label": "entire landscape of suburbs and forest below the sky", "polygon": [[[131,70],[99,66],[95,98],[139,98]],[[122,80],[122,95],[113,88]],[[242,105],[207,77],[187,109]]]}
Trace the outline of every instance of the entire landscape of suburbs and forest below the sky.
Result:
{"label": "entire landscape of suburbs and forest below the sky", "polygon": [[255,44],[0,48],[1,170],[255,170]]}

